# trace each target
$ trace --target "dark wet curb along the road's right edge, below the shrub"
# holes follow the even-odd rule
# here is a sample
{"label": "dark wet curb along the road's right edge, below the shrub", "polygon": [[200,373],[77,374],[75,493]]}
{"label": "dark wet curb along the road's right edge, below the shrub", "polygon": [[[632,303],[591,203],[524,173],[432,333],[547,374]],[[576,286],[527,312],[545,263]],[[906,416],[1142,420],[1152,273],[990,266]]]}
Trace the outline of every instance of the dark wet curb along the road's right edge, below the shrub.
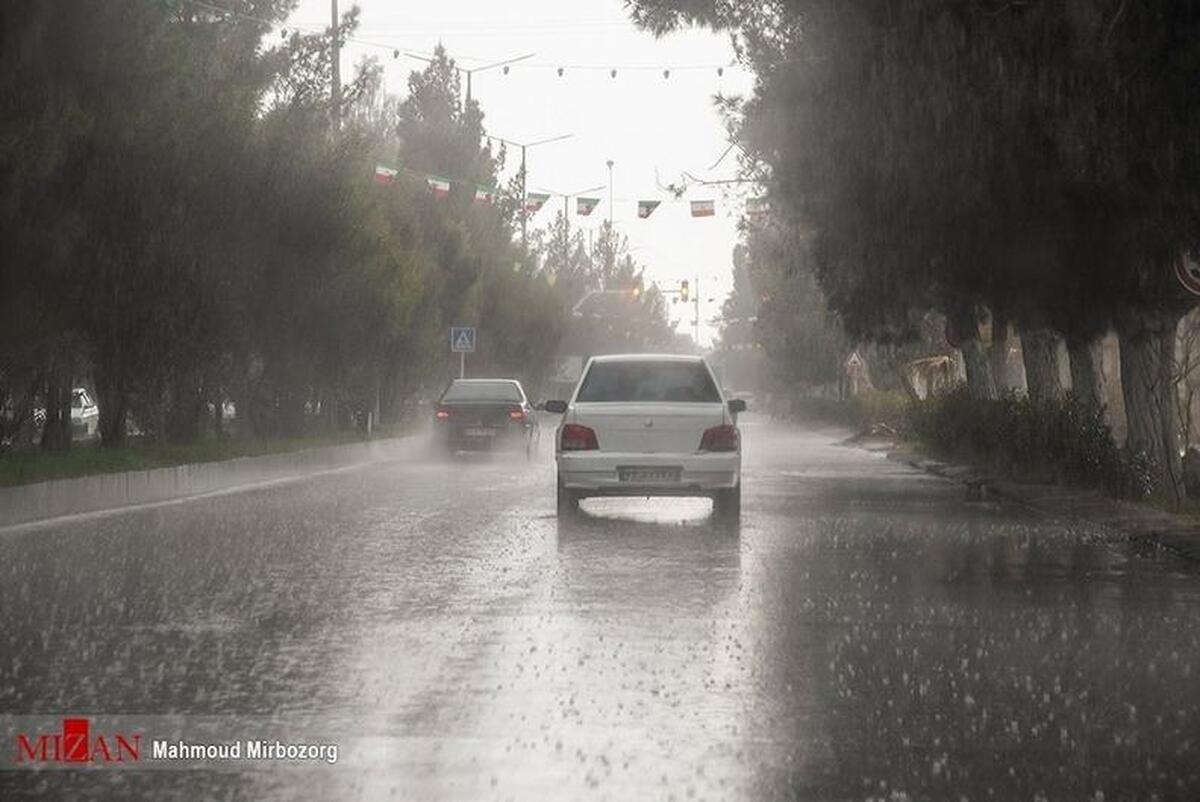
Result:
{"label": "dark wet curb along the road's right edge, below the shrub", "polygon": [[889,460],[964,485],[968,499],[991,496],[1016,502],[1052,517],[1094,523],[1130,541],[1151,543],[1186,559],[1200,562],[1200,525],[1181,515],[1110,498],[1094,490],[995,479],[971,466],[918,455],[902,444],[892,443],[889,448],[871,450],[886,451]]}

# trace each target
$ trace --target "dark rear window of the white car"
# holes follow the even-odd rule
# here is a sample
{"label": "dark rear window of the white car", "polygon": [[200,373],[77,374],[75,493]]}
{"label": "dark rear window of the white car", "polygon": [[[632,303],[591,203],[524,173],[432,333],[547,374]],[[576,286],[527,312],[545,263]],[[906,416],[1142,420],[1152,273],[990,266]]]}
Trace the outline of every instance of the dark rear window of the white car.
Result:
{"label": "dark rear window of the white car", "polygon": [[720,403],[721,395],[700,361],[594,363],[576,401]]}

